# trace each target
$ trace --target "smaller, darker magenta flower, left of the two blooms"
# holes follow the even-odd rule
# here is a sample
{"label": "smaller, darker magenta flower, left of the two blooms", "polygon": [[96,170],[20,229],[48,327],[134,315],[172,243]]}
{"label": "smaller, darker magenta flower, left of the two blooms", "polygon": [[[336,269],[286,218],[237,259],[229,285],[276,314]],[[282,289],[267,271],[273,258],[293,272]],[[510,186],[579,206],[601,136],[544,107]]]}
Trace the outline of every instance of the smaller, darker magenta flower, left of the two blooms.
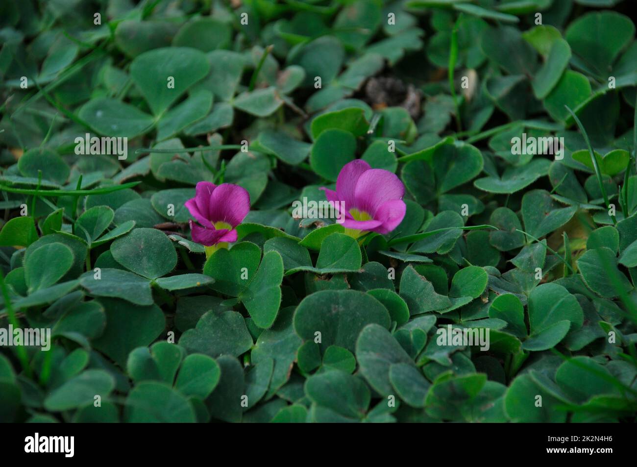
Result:
{"label": "smaller, darker magenta flower, left of the two blooms", "polygon": [[211,247],[218,243],[237,241],[234,227],[241,224],[250,212],[250,194],[232,183],[217,186],[211,182],[199,182],[195,197],[186,201],[185,206],[190,215],[203,226],[190,220],[192,241]]}

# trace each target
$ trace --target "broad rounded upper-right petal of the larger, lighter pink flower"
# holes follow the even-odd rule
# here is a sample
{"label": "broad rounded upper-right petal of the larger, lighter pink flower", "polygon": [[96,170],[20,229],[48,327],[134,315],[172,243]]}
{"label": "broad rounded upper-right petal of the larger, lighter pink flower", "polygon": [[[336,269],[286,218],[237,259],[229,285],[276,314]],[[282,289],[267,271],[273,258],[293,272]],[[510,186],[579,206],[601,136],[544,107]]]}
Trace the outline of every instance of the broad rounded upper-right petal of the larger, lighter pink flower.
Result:
{"label": "broad rounded upper-right petal of the larger, lighter pink flower", "polygon": [[388,170],[369,169],[357,180],[354,189],[355,206],[376,219],[376,210],[392,199],[404,195],[403,182]]}

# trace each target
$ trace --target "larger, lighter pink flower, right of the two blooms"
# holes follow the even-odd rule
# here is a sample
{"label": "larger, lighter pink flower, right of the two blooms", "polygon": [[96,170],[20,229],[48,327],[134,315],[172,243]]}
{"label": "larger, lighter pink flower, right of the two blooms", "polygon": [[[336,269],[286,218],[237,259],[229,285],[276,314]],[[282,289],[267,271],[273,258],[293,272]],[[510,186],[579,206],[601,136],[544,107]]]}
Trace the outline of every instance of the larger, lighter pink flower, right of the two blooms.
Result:
{"label": "larger, lighter pink flower, right of the two blooms", "polygon": [[[344,206],[343,227],[354,238],[364,231],[390,233],[403,220],[404,185],[390,171],[372,169],[361,159],[345,164],[336,179],[336,191],[322,187],[336,209]],[[342,203],[337,203],[341,201]]]}

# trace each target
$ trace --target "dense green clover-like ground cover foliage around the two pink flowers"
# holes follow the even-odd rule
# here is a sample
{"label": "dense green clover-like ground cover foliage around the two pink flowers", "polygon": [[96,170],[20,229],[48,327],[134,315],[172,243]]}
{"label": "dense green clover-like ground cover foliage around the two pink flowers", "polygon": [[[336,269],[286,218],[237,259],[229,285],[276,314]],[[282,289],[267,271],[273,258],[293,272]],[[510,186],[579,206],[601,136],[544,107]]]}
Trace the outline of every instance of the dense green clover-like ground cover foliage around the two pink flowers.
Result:
{"label": "dense green clover-like ground cover foliage around the two pink flowers", "polygon": [[630,3],[3,0],[0,421],[634,421]]}

